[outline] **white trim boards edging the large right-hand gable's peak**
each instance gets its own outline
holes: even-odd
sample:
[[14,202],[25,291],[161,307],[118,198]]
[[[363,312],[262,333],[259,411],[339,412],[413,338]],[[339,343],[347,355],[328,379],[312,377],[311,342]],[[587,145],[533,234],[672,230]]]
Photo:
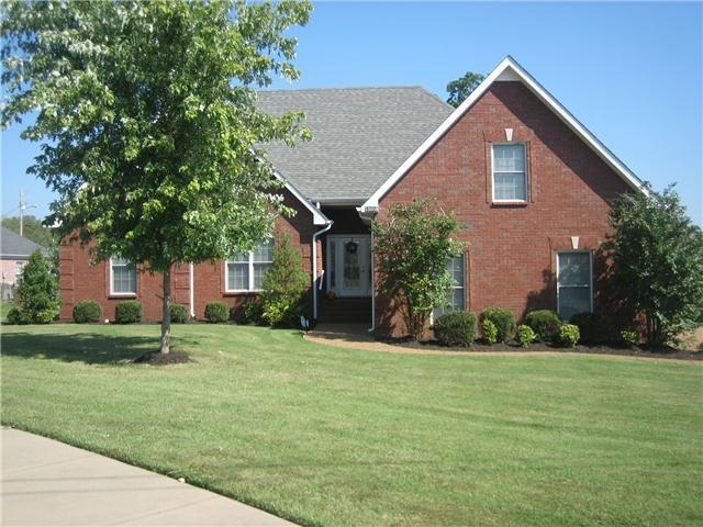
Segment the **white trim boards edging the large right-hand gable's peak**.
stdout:
[[643,181],[633,173],[603,143],[601,143],[583,124],[581,124],[551,93],[527,72],[517,61],[507,56],[481,82],[473,92],[451,112],[425,142],[381,184],[361,205],[361,211],[375,211],[379,200],[401,180],[403,176],[429,150],[454,124],[488,91],[495,81],[521,81],[549,110],[551,110],[577,136],[581,138],[605,164],[611,167],[632,189],[647,193]]

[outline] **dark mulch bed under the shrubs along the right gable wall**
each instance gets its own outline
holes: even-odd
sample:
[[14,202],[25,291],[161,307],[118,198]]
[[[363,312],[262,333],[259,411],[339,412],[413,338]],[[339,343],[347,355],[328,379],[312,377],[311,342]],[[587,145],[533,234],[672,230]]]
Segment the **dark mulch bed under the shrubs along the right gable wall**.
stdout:
[[607,346],[607,345],[596,345],[596,346],[584,346],[578,345],[574,348],[559,348],[555,346],[550,346],[548,344],[536,343],[527,348],[523,348],[517,346],[516,344],[482,344],[481,341],[473,343],[468,348],[461,347],[447,347],[442,346],[437,340],[411,340],[409,338],[387,338],[382,339],[386,344],[392,344],[395,346],[402,346],[409,349],[417,349],[417,350],[433,350],[433,351],[464,351],[464,352],[487,352],[487,351],[511,351],[511,352],[538,352],[538,351],[548,351],[548,352],[563,352],[563,354],[593,354],[593,355],[620,355],[625,357],[647,357],[647,358],[658,358],[658,359],[676,359],[676,360],[703,360],[703,352],[701,351],[690,351],[690,350],[681,350],[673,347],[662,347],[662,348],[647,348],[647,347],[633,347],[633,348],[622,348],[616,346]]

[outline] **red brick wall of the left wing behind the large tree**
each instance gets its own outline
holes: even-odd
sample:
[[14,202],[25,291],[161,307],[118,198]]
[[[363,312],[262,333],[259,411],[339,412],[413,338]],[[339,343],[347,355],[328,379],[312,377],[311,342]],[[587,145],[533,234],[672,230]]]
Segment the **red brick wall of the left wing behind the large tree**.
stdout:
[[[312,223],[312,214],[288,191],[284,192],[284,203],[297,211],[293,217],[279,216],[276,222],[278,232],[290,233],[292,246],[298,248],[303,257],[303,267],[312,277],[312,235],[320,226]],[[319,251],[320,255],[320,251]],[[322,266],[322,256],[319,256]],[[242,303],[254,293],[225,293],[224,262],[198,264],[193,269],[193,292],[196,317],[204,318],[205,304],[214,300],[224,300],[234,306]],[[78,243],[64,244],[60,249],[60,288],[62,306],[60,318],[71,319],[74,304],[81,300],[94,300],[104,310],[104,317],[114,319],[115,305],[127,299],[110,295],[110,269],[107,262],[90,265],[88,248]],[[172,272],[174,302],[190,305],[190,268],[181,266]],[[132,296],[142,302],[144,319],[149,322],[161,318],[161,276],[140,272],[137,276],[137,294]]]

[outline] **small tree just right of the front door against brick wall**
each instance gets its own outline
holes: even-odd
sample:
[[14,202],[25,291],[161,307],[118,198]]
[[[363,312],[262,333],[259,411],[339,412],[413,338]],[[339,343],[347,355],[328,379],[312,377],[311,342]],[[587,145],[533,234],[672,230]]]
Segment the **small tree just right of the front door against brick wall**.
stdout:
[[422,337],[432,310],[446,303],[451,279],[447,260],[461,254],[453,236],[457,220],[429,200],[395,204],[384,222],[373,222],[373,251],[380,291],[401,309],[408,333]]

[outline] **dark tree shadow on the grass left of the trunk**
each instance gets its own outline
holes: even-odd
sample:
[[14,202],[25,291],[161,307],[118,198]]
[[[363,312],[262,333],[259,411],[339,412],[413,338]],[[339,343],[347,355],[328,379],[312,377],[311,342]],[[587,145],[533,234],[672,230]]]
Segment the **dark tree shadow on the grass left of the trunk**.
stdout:
[[[177,338],[176,346],[193,339]],[[158,337],[108,336],[97,333],[62,334],[18,332],[2,334],[2,355],[25,359],[54,359],[86,365],[119,365],[158,350]]]

